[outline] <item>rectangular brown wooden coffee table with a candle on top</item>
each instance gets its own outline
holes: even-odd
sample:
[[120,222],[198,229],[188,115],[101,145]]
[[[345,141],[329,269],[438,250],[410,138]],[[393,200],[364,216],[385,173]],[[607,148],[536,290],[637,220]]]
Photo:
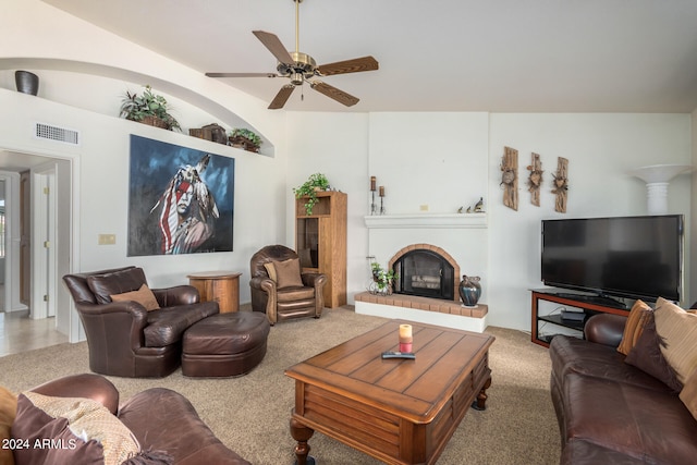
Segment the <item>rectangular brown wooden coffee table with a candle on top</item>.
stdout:
[[[416,359],[382,359],[409,323]],[[388,464],[433,464],[470,406],[484,409],[494,338],[391,320],[285,370],[299,465],[320,431]]]

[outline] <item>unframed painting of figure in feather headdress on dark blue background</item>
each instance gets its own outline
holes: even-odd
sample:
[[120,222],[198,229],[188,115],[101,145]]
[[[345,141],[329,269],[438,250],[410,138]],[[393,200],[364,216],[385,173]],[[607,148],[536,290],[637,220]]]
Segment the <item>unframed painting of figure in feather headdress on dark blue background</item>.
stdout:
[[234,158],[131,135],[129,256],[231,252]]

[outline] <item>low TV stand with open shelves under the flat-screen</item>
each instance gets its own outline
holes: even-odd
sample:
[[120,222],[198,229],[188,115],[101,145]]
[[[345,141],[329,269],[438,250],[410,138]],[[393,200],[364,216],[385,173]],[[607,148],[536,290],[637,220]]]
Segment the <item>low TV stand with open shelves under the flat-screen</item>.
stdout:
[[[559,296],[559,293],[563,293],[564,296]],[[615,308],[608,307],[604,305],[599,305],[589,302],[583,302],[578,299],[571,298],[572,294],[567,292],[562,292],[561,290],[550,289],[550,290],[531,290],[531,303],[530,303],[530,315],[531,315],[531,325],[530,325],[530,340],[539,344],[543,347],[549,347],[549,340],[540,339],[538,334],[539,323],[542,321],[547,325],[557,325],[559,327],[571,329],[572,332],[578,334],[579,338],[584,336],[584,325],[586,320],[597,314],[615,314],[615,315],[629,315],[629,310],[625,308]],[[579,295],[582,297],[583,295]],[[560,304],[562,306],[582,308],[586,311],[586,319],[584,321],[570,321],[563,320],[561,315],[539,315],[539,302],[552,302],[555,304]]]

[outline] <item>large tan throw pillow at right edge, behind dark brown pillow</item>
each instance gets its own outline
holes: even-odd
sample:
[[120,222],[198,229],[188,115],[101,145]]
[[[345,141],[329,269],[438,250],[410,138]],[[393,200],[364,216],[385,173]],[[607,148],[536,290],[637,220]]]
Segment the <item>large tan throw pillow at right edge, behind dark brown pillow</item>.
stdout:
[[683,310],[664,298],[656,303],[656,332],[665,344],[661,352],[668,364],[685,384],[697,369],[697,315]]

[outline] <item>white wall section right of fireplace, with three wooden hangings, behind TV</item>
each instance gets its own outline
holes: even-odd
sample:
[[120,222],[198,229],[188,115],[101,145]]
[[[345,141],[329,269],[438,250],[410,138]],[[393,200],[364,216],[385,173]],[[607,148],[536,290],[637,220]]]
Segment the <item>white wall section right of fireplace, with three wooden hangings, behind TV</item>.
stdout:
[[[489,323],[529,329],[527,290],[541,286],[540,220],[646,215],[646,184],[627,172],[649,164],[689,163],[689,124],[687,114],[492,114]],[[503,207],[498,188],[504,146],[518,150],[518,211]],[[540,207],[529,203],[525,186],[531,151],[541,156],[545,170]],[[568,159],[565,215],[554,212],[551,193],[557,157]],[[689,224],[688,176],[671,183],[669,210],[686,215]]]

